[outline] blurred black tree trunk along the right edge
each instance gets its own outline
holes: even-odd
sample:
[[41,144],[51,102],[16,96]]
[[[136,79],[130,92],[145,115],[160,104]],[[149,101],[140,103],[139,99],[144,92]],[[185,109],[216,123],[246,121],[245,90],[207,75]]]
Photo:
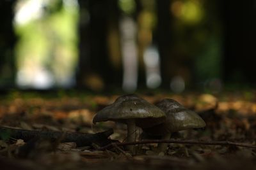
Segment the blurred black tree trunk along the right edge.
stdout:
[[224,79],[256,83],[256,2],[222,1],[224,26]]

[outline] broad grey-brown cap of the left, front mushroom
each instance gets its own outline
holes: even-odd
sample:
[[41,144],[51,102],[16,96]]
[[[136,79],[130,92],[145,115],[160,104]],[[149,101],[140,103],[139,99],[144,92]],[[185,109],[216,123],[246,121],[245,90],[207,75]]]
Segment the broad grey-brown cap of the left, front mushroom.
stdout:
[[165,118],[165,113],[153,104],[134,94],[127,94],[97,112],[93,117],[93,124],[108,120],[125,124],[125,120],[134,119],[138,127],[146,128],[163,123]]

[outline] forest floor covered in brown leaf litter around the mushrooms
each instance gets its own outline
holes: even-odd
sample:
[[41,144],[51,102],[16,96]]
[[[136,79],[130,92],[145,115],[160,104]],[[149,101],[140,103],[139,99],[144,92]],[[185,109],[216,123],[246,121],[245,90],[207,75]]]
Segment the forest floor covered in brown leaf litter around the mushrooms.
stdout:
[[[232,141],[256,146],[256,92],[222,94],[138,94],[150,103],[172,98],[196,111],[205,120],[200,131],[180,131],[172,139]],[[10,92],[0,96],[0,127],[37,132],[81,132],[95,134],[113,129],[109,139],[125,141],[126,127],[113,122],[93,125],[92,118],[118,95],[72,94],[49,96]],[[138,129],[138,136],[141,129]],[[63,133],[65,136],[65,133]],[[100,150],[91,143],[55,141],[13,136],[0,129],[0,169],[255,169],[256,149],[235,145],[170,143],[165,152],[156,152],[156,143],[136,145],[133,155],[122,146]],[[140,139],[138,138],[138,141]],[[102,145],[103,146],[103,145]]]

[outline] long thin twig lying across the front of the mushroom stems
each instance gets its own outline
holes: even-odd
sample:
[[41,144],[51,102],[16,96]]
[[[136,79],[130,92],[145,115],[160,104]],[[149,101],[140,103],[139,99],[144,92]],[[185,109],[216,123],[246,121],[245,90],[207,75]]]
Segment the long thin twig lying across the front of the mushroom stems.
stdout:
[[134,142],[124,142],[124,143],[110,143],[109,145],[103,146],[98,150],[107,150],[113,148],[113,146],[127,146],[127,145],[141,145],[149,143],[180,143],[188,145],[232,145],[232,146],[242,146],[246,148],[255,148],[256,145],[250,145],[247,143],[236,143],[231,141],[195,141],[195,140],[180,140],[180,139],[167,139],[167,140],[143,140]]

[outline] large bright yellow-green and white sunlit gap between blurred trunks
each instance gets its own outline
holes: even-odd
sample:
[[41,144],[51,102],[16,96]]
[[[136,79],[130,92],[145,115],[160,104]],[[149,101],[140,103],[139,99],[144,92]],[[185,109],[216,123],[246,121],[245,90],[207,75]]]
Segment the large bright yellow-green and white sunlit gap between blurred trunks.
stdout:
[[[17,1],[16,83],[22,88],[72,87],[77,64],[77,0]],[[61,2],[61,0],[58,0]],[[49,10],[50,9],[50,10]]]

